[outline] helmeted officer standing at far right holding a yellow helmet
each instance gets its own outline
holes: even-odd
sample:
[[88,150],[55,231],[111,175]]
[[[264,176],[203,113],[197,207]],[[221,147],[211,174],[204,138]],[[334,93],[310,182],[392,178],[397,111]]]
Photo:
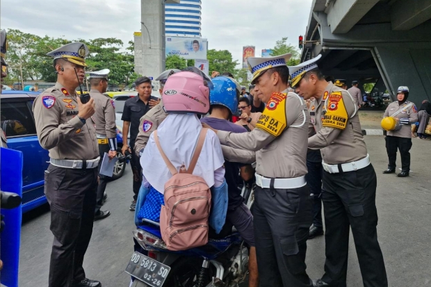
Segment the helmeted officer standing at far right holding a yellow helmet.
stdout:
[[[418,121],[418,110],[411,101],[407,101],[409,97],[409,88],[400,86],[397,94],[398,101],[393,101],[384,111],[384,117],[390,117],[393,114],[398,121],[398,129],[387,131],[386,150],[388,153],[389,164],[388,169],[384,170],[384,174],[395,172],[396,167],[396,150],[400,150],[401,156],[401,172],[397,177],[408,177],[410,173],[410,149],[412,148],[412,127]],[[398,113],[398,111],[400,111]]]

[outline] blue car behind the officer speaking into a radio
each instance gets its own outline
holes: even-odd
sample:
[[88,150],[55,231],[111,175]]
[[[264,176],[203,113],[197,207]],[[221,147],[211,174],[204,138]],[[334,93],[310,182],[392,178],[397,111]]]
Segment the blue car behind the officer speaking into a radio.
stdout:
[[1,92],[1,129],[8,138],[8,148],[22,151],[22,212],[36,208],[47,199],[44,196],[44,170],[48,151],[40,147],[36,135],[32,107],[38,92],[3,90]]

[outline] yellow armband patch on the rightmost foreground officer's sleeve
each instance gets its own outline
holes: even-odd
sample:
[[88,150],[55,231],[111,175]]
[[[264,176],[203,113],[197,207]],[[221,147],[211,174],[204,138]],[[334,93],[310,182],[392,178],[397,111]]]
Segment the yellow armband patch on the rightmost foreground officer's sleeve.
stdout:
[[323,116],[322,125],[334,129],[345,129],[348,122],[348,114],[344,106],[341,91],[332,92],[329,95],[325,106],[327,106],[327,112]]

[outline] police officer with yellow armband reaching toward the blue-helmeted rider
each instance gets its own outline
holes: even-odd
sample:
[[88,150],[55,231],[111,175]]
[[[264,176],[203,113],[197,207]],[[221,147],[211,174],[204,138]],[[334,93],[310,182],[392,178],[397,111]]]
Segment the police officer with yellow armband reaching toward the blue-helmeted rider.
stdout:
[[304,263],[313,218],[304,178],[309,113],[298,95],[286,93],[289,58],[247,58],[266,109],[250,133],[216,131],[222,145],[256,151],[254,238],[260,286],[268,287],[311,286]]

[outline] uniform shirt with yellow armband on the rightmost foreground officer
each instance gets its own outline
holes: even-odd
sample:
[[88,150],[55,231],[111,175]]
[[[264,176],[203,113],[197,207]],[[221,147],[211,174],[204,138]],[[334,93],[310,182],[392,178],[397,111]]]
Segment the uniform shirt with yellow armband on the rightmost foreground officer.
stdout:
[[366,157],[357,105],[346,90],[328,83],[323,97],[311,103],[309,112],[308,146],[320,149],[325,163],[350,163]]

